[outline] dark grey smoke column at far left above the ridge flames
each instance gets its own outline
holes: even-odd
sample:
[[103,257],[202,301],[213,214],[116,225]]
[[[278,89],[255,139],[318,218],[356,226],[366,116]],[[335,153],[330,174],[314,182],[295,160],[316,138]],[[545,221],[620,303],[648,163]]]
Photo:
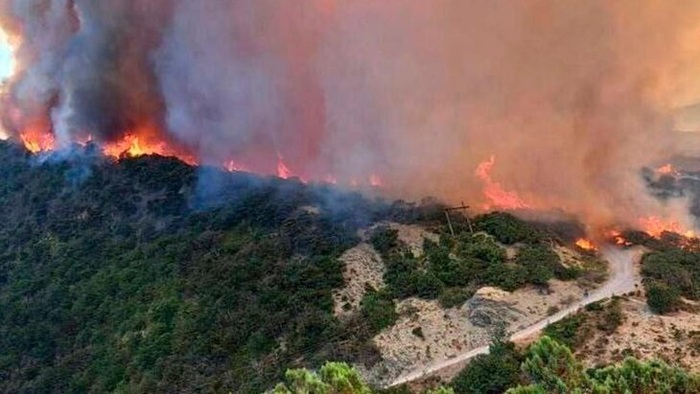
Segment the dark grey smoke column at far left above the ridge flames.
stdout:
[[164,112],[151,56],[168,24],[168,0],[4,1],[22,36],[11,91],[13,131],[44,127],[59,144],[109,141]]

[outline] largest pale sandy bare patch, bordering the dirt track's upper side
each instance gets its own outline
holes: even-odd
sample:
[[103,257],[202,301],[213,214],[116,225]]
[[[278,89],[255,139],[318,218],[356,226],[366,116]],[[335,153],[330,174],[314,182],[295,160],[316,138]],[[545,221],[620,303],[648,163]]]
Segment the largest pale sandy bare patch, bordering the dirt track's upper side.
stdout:
[[[483,287],[462,307],[443,309],[438,301],[409,298],[398,304],[399,321],[373,338],[383,362],[367,371],[373,382],[390,383],[406,371],[423,371],[488,345],[494,325],[475,324],[490,315],[517,332],[566,309],[583,295],[575,282],[553,280],[550,294],[535,288],[507,292]],[[419,373],[418,376],[422,375]]]

